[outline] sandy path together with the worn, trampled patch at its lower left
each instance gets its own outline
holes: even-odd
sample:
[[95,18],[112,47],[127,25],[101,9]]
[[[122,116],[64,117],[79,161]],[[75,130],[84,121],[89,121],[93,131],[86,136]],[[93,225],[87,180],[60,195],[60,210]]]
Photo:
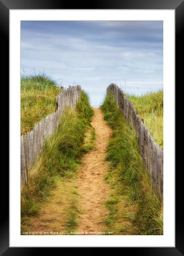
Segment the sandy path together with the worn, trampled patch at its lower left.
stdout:
[[77,227],[70,231],[88,231],[84,235],[95,235],[89,232],[106,230],[103,222],[108,212],[104,202],[109,197],[110,189],[104,182],[108,169],[104,158],[112,131],[106,125],[99,108],[94,108],[91,124],[96,133],[94,148],[83,156],[80,169],[73,174],[71,180],[58,178],[56,188],[42,203],[39,216],[25,220],[25,231],[38,231],[37,235],[53,235],[51,231],[60,231],[56,232],[56,235],[65,235],[68,230],[68,211],[72,209],[74,195],[82,213],[77,216]]

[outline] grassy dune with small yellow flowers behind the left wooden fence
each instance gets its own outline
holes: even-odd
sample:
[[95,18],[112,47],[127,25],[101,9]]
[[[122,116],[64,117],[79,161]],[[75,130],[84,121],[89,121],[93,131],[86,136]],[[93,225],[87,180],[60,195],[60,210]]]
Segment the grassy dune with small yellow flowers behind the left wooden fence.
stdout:
[[34,124],[55,112],[60,88],[45,74],[21,77],[21,134],[30,132]]

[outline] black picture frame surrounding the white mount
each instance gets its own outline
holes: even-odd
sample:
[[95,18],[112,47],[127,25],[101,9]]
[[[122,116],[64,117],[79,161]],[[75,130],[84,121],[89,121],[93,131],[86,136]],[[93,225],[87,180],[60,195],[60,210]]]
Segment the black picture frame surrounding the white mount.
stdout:
[[[184,31],[184,1],[183,0],[114,0],[114,1],[94,1],[88,2],[88,5],[60,0],[0,0],[0,31],[1,31],[1,52],[4,54],[2,73],[9,77],[9,10],[12,9],[175,9],[175,85],[182,82],[183,76],[183,56],[184,56],[184,40],[182,34]],[[183,54],[182,54],[183,53]],[[7,92],[9,93],[9,92]],[[177,97],[180,101],[181,95]],[[182,101],[181,101],[182,102]],[[177,120],[178,113],[175,112]],[[7,122],[8,123],[8,122]],[[10,124],[11,125],[11,124]],[[6,129],[7,131],[7,129]],[[179,135],[177,135],[179,138]],[[176,136],[176,139],[177,139]],[[7,141],[6,141],[7,144]],[[177,154],[175,162],[179,161],[180,155]],[[167,161],[167,159],[165,159]],[[183,232],[183,211],[181,212],[181,195],[183,195],[183,180],[180,178],[179,170],[176,171],[176,212],[175,212],[175,247],[123,247],[124,250],[130,250],[128,253],[136,253],[136,255],[184,255],[184,232]],[[181,170],[182,171],[182,170]],[[3,177],[2,177],[3,176]],[[1,172],[1,181],[8,183],[8,171]],[[1,222],[0,222],[0,255],[37,255],[43,249],[35,247],[9,247],[9,191],[6,184],[6,192],[1,192]],[[182,204],[183,206],[183,204]],[[85,247],[85,246],[84,246]],[[53,248],[46,248],[50,253]]]

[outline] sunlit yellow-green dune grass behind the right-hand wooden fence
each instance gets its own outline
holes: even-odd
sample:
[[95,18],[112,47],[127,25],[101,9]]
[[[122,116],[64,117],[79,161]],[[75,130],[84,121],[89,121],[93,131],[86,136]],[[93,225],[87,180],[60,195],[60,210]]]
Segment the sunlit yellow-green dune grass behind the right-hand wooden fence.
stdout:
[[126,96],[144,119],[149,131],[153,133],[154,141],[163,148],[163,90],[140,97],[128,94]]

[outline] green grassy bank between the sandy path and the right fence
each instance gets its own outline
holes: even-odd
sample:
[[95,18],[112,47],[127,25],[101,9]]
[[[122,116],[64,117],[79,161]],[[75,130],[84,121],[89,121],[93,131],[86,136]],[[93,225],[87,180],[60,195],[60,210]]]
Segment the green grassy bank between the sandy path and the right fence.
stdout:
[[163,206],[143,168],[136,132],[127,125],[112,95],[101,109],[113,129],[106,156],[110,168],[105,179],[112,189],[106,202],[108,230],[114,235],[162,235]]

